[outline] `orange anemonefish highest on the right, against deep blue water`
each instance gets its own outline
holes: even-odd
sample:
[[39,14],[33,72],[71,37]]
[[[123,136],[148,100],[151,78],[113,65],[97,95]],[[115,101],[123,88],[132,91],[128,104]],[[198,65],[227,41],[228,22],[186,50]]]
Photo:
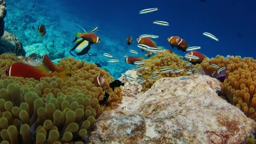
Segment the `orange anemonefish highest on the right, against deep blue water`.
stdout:
[[178,36],[168,37],[167,40],[172,48],[175,46],[178,50],[182,50],[182,52],[186,52],[187,47],[189,47],[187,42]]

